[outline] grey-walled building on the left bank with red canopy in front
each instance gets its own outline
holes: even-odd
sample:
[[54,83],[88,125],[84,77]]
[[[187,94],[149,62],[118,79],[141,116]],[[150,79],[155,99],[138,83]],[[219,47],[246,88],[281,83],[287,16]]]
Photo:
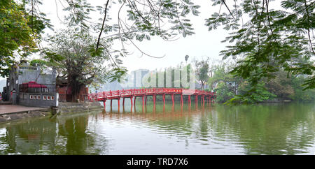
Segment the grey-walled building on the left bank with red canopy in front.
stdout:
[[[23,84],[36,82],[45,88],[22,89]],[[11,91],[16,91],[16,101],[13,101]],[[42,70],[40,66],[31,66],[26,62],[14,65],[10,70],[9,78],[6,80],[6,98],[8,101],[19,105],[52,107],[58,105],[58,94],[56,92],[56,71]]]

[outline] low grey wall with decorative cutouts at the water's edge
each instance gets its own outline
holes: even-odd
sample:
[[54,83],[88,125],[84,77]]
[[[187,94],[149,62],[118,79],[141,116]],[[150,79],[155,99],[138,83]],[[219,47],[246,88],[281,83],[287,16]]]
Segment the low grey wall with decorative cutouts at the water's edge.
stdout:
[[20,93],[18,97],[20,105],[50,108],[58,106],[59,96],[58,93]]

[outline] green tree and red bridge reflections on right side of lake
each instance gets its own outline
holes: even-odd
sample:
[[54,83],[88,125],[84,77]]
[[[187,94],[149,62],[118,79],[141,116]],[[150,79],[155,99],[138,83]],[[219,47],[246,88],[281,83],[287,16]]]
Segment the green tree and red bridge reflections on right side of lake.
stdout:
[[155,113],[149,106],[146,113],[110,112],[110,117],[146,121],[159,133],[201,140],[202,144],[232,142],[244,148],[244,154],[300,154],[314,146],[312,104],[216,105],[204,110],[192,106],[190,112],[187,107],[172,111],[172,105],[162,112],[161,107]]

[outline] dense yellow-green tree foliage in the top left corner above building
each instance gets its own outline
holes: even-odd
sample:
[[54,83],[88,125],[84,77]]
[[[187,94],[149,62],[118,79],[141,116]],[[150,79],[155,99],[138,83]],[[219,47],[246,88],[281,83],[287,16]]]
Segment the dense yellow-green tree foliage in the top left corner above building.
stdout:
[[26,2],[13,0],[0,2],[0,75],[8,75],[16,58],[25,59],[31,52],[38,51],[36,41],[41,39],[48,20],[43,13],[31,15]]

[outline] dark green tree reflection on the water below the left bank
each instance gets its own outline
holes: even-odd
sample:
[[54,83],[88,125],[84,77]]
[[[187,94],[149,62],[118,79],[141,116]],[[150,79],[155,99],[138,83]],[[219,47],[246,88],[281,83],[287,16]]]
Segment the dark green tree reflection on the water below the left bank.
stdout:
[[57,120],[30,119],[8,124],[3,128],[5,134],[0,135],[0,143],[6,146],[0,154],[104,154],[107,151],[104,136],[89,128],[92,116],[85,112],[62,115]]

